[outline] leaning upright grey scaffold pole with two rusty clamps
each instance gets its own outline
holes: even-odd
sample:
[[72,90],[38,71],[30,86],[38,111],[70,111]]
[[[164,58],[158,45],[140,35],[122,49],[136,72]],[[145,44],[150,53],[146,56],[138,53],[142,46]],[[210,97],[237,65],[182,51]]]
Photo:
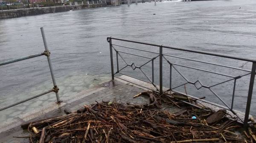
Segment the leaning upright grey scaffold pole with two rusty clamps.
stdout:
[[[46,42],[46,38],[45,38],[45,35],[44,35],[44,28],[41,27],[40,29],[41,29],[41,34],[42,34],[43,41],[44,41],[45,52],[49,52],[48,46],[47,46],[47,42]],[[51,76],[52,76],[52,83],[53,83],[53,86],[54,86],[54,88],[58,89],[57,84],[56,84],[56,81],[55,81],[55,78],[54,78],[53,70],[52,70],[52,62],[51,62],[50,56],[47,56],[47,60],[48,60],[49,69],[50,69]],[[55,94],[56,94],[57,102],[58,102],[58,103],[61,102],[61,101],[60,101],[60,98],[59,98],[59,95],[58,95],[58,90],[55,92]]]

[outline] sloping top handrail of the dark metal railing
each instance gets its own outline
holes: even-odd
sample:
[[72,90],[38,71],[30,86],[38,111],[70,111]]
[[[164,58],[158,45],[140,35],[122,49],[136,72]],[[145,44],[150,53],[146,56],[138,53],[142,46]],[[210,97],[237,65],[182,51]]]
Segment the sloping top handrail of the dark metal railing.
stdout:
[[228,55],[204,52],[204,51],[199,51],[199,50],[174,48],[174,47],[168,47],[168,46],[163,46],[163,45],[156,45],[156,44],[150,44],[150,43],[145,43],[145,42],[137,42],[137,41],[131,41],[131,40],[125,40],[125,39],[119,39],[119,38],[113,38],[113,37],[108,37],[108,38],[119,40],[119,41],[125,41],[125,42],[133,42],[133,43],[137,43],[137,44],[151,45],[151,46],[156,46],[156,47],[162,46],[163,48],[168,48],[168,49],[173,49],[173,50],[181,50],[181,51],[192,52],[192,53],[201,53],[201,54],[210,55],[210,56],[219,56],[219,57],[223,57],[223,58],[237,59],[237,60],[247,61],[247,62],[256,62],[255,59],[247,59],[247,58],[241,58],[241,57],[236,57],[236,56],[228,56]]

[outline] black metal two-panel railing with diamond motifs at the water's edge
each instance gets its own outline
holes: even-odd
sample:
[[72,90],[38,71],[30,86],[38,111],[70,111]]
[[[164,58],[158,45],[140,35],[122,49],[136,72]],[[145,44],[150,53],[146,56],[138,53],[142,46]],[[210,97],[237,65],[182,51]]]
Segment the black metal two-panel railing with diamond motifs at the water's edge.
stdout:
[[[136,43],[136,44],[140,44],[140,45],[148,45],[148,46],[153,46],[153,47],[158,47],[159,48],[159,52],[154,52],[154,51],[149,51],[149,50],[143,50],[143,49],[138,49],[138,48],[132,48],[132,47],[128,47],[128,46],[123,46],[123,45],[117,45],[117,44],[113,44],[112,43],[112,40],[116,40],[116,41],[121,41],[121,42],[128,42],[128,43]],[[250,104],[251,104],[251,99],[252,99],[252,94],[253,94],[253,84],[254,84],[254,79],[255,79],[255,72],[256,72],[256,60],[254,59],[246,59],[246,58],[240,58],[240,57],[235,57],[235,56],[227,56],[227,55],[221,55],[221,54],[218,54],[218,53],[210,53],[210,52],[204,52],[204,51],[198,51],[198,50],[189,50],[189,49],[182,49],[182,48],[173,48],[173,47],[168,47],[168,46],[163,46],[163,45],[156,45],[156,44],[149,44],[149,43],[145,43],[145,42],[136,42],[136,41],[131,41],[131,40],[125,40],[125,39],[118,39],[118,38],[113,38],[113,37],[108,37],[107,38],[107,41],[109,42],[109,45],[110,45],[110,56],[111,56],[111,74],[112,74],[112,80],[114,80],[114,77],[116,78],[119,78],[121,79],[119,76],[116,76],[116,74],[121,74],[121,75],[125,75],[125,76],[129,76],[125,73],[122,73],[122,70],[125,69],[126,67],[131,67],[133,70],[135,69],[138,69],[140,70],[140,72],[146,77],[146,79],[148,81],[145,81],[143,79],[139,79],[137,77],[134,77],[134,76],[129,76],[129,77],[132,77],[132,78],[135,78],[135,79],[138,79],[138,80],[141,80],[141,81],[145,81],[149,84],[152,84],[154,86],[155,89],[151,89],[149,87],[146,87],[146,86],[143,86],[143,85],[139,85],[141,87],[144,87],[146,89],[149,89],[149,90],[154,90],[154,91],[157,91],[159,92],[160,94],[162,93],[165,93],[165,92],[169,92],[169,91],[172,91],[172,92],[177,92],[177,93],[180,93],[178,91],[176,91],[175,89],[178,88],[178,87],[181,87],[181,86],[184,86],[186,84],[192,84],[195,86],[195,88],[197,90],[201,89],[201,88],[206,88],[208,89],[211,93],[213,93],[213,95],[215,95],[221,102],[222,104],[224,104],[224,106],[221,106],[219,104],[215,104],[215,103],[212,103],[210,101],[206,101],[204,99],[200,99],[200,98],[197,98],[197,97],[194,97],[194,96],[191,96],[191,95],[188,95],[188,94],[185,94],[186,96],[188,97],[191,97],[191,98],[195,98],[199,101],[203,101],[203,102],[206,102],[208,104],[212,104],[214,106],[217,106],[217,107],[221,107],[221,108],[224,108],[224,109],[227,109],[229,111],[231,111],[234,115],[236,115],[240,120],[241,122],[244,123],[244,127],[247,127],[248,126],[248,118],[249,118],[249,114],[250,114]],[[132,50],[138,50],[138,51],[143,51],[143,52],[149,52],[149,53],[154,53],[154,54],[157,54],[157,56],[154,56],[153,58],[151,57],[147,57],[147,56],[143,56],[143,55],[138,55],[138,54],[133,54],[133,53],[128,53],[128,52],[125,52],[125,51],[121,51],[121,50],[118,50],[116,47],[122,47],[122,48],[128,48],[128,49],[132,49]],[[212,63],[212,62],[204,62],[204,61],[200,61],[200,60],[195,60],[195,59],[189,59],[189,58],[184,58],[184,57],[180,57],[180,56],[174,56],[174,55],[170,55],[170,54],[165,54],[163,53],[163,48],[166,48],[166,49],[172,49],[172,50],[180,50],[180,51],[186,51],[186,52],[191,52],[191,53],[199,53],[199,54],[204,54],[204,55],[209,55],[209,56],[217,56],[217,57],[223,57],[223,58],[228,58],[228,59],[235,59],[235,60],[241,60],[241,61],[246,61],[246,62],[251,62],[252,63],[252,69],[251,70],[245,70],[245,69],[242,69],[242,68],[237,68],[237,67],[232,67],[232,66],[227,66],[227,65],[222,65],[222,64],[216,64],[216,63]],[[113,50],[115,50],[116,52],[116,72],[114,73],[114,66],[113,66]],[[125,53],[125,54],[129,54],[129,55],[132,55],[132,56],[138,56],[138,57],[142,57],[142,58],[145,58],[145,59],[148,59],[147,62],[145,62],[144,64],[142,64],[141,66],[137,66],[136,64],[131,63],[129,64],[128,62],[125,61],[124,57],[120,54],[120,53]],[[119,69],[119,60],[118,58],[121,58],[124,62],[125,62],[125,66],[122,67],[121,69]],[[154,82],[154,61],[156,58],[159,57],[159,86],[155,84]],[[186,66],[186,65],[183,65],[183,64],[178,64],[178,63],[175,63],[175,62],[172,62],[172,61],[169,61],[167,59],[167,57],[174,57],[174,58],[178,58],[178,59],[185,59],[185,60],[189,60],[189,61],[193,61],[193,62],[199,62],[199,63],[204,63],[204,64],[210,64],[210,65],[214,65],[214,66],[219,66],[219,67],[226,67],[226,68],[230,68],[230,69],[234,69],[234,70],[238,70],[238,71],[243,71],[245,72],[244,74],[241,74],[239,76],[232,76],[232,75],[229,75],[229,74],[225,74],[225,73],[218,73],[218,72],[214,72],[214,71],[211,71],[211,70],[204,70],[204,69],[201,69],[201,68],[197,68],[197,67],[191,67],[191,66]],[[166,90],[166,91],[163,91],[163,60],[166,60],[169,64],[169,74],[170,74],[170,79],[169,79],[169,89]],[[148,64],[149,62],[151,62],[151,67],[152,67],[152,78],[150,79],[146,74],[145,72],[142,70],[142,67],[145,65],[145,64]],[[186,68],[189,68],[189,69],[193,69],[193,70],[200,70],[200,71],[204,71],[204,72],[207,72],[207,73],[212,73],[212,74],[216,74],[216,75],[220,75],[220,76],[225,76],[225,77],[228,77],[228,78],[231,78],[231,79],[228,79],[226,81],[221,81],[219,83],[216,83],[214,85],[211,85],[211,86],[207,86],[207,85],[204,85],[200,80],[197,80],[195,82],[192,82],[190,81],[189,79],[186,78],[186,76],[184,76],[180,70],[177,69],[177,67],[186,67]],[[184,84],[181,84],[181,85],[178,85],[176,87],[172,87],[172,70],[176,70],[176,72],[182,76],[182,78],[186,81]],[[250,75],[250,83],[249,83],[249,90],[248,90],[248,95],[247,95],[247,105],[246,105],[246,110],[245,110],[245,115],[244,115],[244,120],[242,120],[238,115],[237,113],[235,112],[234,110],[234,98],[235,98],[235,90],[236,90],[236,81],[238,79],[240,79],[241,77],[244,77],[244,76],[247,76],[247,75]],[[122,80],[125,80],[125,79],[122,79]],[[233,93],[232,93],[232,100],[231,100],[231,106],[229,106],[213,89],[212,87],[215,87],[219,84],[224,84],[228,81],[233,81],[234,80],[234,84],[233,84]],[[128,80],[125,80],[125,81],[128,81]],[[133,83],[132,81],[128,81],[128,82],[131,82]],[[136,84],[136,83],[133,83],[133,84]],[[199,85],[199,86],[197,86]]]

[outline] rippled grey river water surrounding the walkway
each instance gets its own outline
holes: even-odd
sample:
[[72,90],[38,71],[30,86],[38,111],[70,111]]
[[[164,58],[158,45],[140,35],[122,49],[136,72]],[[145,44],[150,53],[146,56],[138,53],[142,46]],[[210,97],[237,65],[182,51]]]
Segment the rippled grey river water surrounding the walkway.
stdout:
[[[255,21],[255,0],[171,2],[157,3],[157,6],[154,6],[154,3],[148,3],[131,5],[130,7],[123,5],[6,19],[0,20],[0,61],[44,51],[40,32],[40,27],[44,27],[61,96],[70,96],[110,77],[107,36],[255,58]],[[128,43],[125,44],[129,45]],[[141,48],[145,49],[146,47],[142,46]],[[147,47],[147,49],[156,50],[152,47]],[[164,52],[249,70],[251,68],[250,63],[242,61],[195,55],[175,50],[164,50]],[[147,54],[141,53],[141,55]],[[129,62],[134,62],[136,59],[128,55],[123,56]],[[142,63],[146,61],[145,59],[138,60]],[[169,60],[236,76],[242,74],[238,71],[205,64],[195,64],[177,59]],[[148,68],[146,68],[147,66]],[[145,72],[150,75],[151,67],[150,65],[147,66]],[[164,63],[165,66],[168,65]],[[179,70],[189,80],[200,79],[206,85],[228,79],[186,68],[179,67]],[[133,74],[133,71],[129,69],[125,72]],[[167,87],[169,86],[168,74],[169,67],[166,67],[164,84]],[[52,88],[49,67],[45,57],[2,66],[0,77],[1,107]],[[173,86],[184,82],[175,72],[173,78],[175,79]],[[242,111],[246,105],[248,79],[249,76],[244,77],[238,81],[236,87],[238,91],[236,91],[235,107]],[[224,98],[229,105],[232,97],[232,84],[233,81],[215,87],[216,93]],[[186,88],[189,93],[192,92],[198,96],[205,95],[208,99],[220,103],[208,90],[201,89],[200,92],[194,92],[194,87],[187,86]],[[183,91],[184,87],[180,87],[179,90]],[[3,121],[6,118],[15,117],[29,109],[44,106],[47,102],[54,100],[55,95],[53,93],[37,98],[32,102],[2,111],[0,119]],[[255,104],[256,96],[253,95],[251,111],[253,115],[256,115]]]

